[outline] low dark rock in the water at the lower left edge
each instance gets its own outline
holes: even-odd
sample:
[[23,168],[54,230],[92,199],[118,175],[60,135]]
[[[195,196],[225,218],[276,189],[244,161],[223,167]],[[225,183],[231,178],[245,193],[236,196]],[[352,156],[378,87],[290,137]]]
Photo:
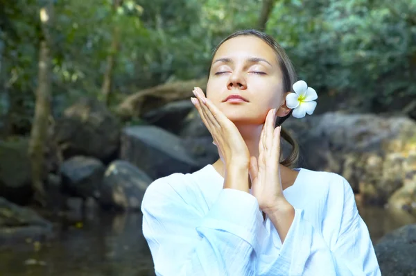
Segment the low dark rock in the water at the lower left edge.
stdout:
[[53,225],[32,209],[0,198],[0,248],[51,236]]

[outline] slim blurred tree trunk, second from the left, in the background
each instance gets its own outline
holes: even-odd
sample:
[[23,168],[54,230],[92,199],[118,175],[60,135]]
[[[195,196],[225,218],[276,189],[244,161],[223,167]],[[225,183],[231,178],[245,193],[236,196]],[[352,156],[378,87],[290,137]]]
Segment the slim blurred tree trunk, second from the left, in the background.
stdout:
[[[117,9],[123,4],[123,0],[114,0],[113,2],[113,12],[116,16]],[[117,24],[117,23],[116,23]],[[101,94],[103,96],[103,101],[108,105],[110,101],[110,94],[112,90],[112,75],[115,67],[116,54],[119,51],[120,46],[120,28],[119,26],[114,26],[112,34],[112,42],[110,46],[110,53],[107,55],[107,67],[105,68],[103,86],[101,87]]]

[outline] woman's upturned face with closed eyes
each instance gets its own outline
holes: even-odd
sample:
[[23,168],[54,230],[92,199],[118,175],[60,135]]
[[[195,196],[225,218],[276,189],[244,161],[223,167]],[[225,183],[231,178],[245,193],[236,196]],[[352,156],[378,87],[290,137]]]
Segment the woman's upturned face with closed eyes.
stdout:
[[[258,37],[234,37],[214,55],[207,98],[234,123],[264,123],[267,112],[281,107],[285,95],[275,51]],[[286,111],[280,108],[277,116]]]

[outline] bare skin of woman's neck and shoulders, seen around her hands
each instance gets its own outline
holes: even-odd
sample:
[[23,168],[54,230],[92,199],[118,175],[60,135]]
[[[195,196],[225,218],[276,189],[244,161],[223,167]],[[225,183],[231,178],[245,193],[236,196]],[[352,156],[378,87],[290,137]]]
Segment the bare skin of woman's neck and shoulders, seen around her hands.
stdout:
[[[243,137],[245,144],[247,145],[248,151],[250,152],[250,156],[256,157],[259,159],[259,141],[260,141],[260,134],[263,125],[256,125],[256,126],[237,126],[239,132],[241,133],[241,137]],[[225,164],[221,159],[218,159],[214,164],[214,169],[220,175],[224,177],[225,175]],[[291,186],[297,177],[298,172],[293,171],[286,166],[280,165],[280,177],[281,177],[281,186],[283,189]],[[249,178],[250,182],[250,178]],[[251,187],[251,183],[250,183]]]

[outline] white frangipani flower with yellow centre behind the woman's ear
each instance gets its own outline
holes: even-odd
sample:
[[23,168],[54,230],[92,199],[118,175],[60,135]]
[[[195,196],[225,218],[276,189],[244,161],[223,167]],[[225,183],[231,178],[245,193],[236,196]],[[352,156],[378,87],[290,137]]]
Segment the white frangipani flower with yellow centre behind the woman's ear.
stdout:
[[293,109],[293,117],[302,118],[306,113],[312,115],[316,107],[315,100],[318,98],[315,89],[308,87],[304,80],[299,80],[293,84],[293,91],[295,93],[286,96],[286,105]]

